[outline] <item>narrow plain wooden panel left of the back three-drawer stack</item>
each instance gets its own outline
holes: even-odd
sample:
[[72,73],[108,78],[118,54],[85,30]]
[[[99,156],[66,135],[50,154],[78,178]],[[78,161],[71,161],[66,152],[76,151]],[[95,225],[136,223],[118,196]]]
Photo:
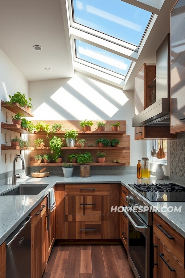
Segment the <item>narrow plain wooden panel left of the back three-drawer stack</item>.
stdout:
[[65,185],[56,184],[56,239],[65,239]]

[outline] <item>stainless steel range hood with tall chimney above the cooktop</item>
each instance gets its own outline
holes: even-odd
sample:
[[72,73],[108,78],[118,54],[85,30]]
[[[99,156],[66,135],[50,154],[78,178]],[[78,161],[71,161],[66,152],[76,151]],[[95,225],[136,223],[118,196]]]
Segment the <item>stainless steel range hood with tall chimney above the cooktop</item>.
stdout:
[[136,115],[133,126],[170,126],[170,34],[156,52],[156,102]]

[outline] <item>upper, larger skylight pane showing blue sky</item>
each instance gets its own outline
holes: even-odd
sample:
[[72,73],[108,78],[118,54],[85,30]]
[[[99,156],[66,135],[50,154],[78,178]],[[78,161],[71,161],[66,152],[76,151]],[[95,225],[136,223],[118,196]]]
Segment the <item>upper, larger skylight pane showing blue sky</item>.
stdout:
[[139,45],[151,13],[121,0],[72,0],[74,21]]

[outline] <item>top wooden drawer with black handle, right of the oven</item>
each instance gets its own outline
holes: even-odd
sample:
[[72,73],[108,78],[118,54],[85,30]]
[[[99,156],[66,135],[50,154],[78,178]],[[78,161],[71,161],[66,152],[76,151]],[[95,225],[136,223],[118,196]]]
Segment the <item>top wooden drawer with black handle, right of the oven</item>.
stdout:
[[153,232],[184,267],[184,238],[156,213],[153,215]]

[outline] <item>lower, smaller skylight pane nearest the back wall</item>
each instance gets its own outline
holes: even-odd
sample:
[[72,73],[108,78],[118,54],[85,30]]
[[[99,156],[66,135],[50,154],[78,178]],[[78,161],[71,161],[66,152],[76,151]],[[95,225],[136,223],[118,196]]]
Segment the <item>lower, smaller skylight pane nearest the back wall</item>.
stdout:
[[122,75],[127,74],[132,62],[129,59],[80,40],[76,40],[76,57]]

